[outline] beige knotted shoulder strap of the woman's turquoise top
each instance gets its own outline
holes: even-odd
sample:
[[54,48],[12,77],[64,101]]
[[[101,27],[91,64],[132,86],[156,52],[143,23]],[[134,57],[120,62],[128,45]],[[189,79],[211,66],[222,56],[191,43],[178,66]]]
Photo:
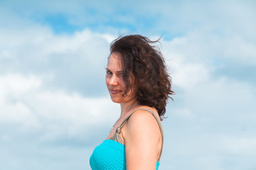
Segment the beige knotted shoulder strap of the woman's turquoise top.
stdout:
[[[156,116],[156,114],[151,111],[150,109],[148,108],[137,108],[135,109],[134,111],[132,111],[132,113],[138,111],[138,110],[144,110],[144,111],[149,111],[149,113],[151,113],[152,115],[154,115],[154,118],[156,118],[156,121],[157,123],[159,124],[159,128],[160,128],[160,132],[161,132],[161,152],[160,152],[160,156],[159,156],[159,159],[158,161],[160,161],[161,159],[161,154],[163,152],[163,145],[164,145],[164,130],[161,126],[161,121],[159,120],[159,118]],[[119,136],[119,133],[121,131],[121,129],[124,127],[125,123],[127,123],[128,119],[131,117],[132,113],[129,113],[129,115],[127,115],[126,118],[124,118],[124,120],[122,121],[121,125],[117,128],[116,132],[114,133],[114,135],[110,138],[110,140],[114,140],[116,142],[119,142],[122,144],[122,140]]]

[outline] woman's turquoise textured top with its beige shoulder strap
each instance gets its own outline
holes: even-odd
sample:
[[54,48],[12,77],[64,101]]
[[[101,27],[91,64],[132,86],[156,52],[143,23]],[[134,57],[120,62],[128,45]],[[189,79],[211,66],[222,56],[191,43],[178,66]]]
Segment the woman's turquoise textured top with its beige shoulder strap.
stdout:
[[[154,117],[157,120],[157,123],[159,123],[159,128],[161,130],[161,136],[162,136],[162,147],[161,152],[163,149],[163,142],[164,142],[164,135],[163,135],[163,129],[161,127],[160,120],[156,117],[155,113],[153,111],[150,111],[146,108],[138,108],[132,113],[134,113],[137,110],[145,110],[149,111],[154,115]],[[124,124],[127,122],[129,117],[132,115],[130,113],[127,118],[124,118],[122,124],[117,128],[114,136],[110,140],[104,140],[100,145],[95,147],[94,151],[92,152],[92,155],[90,157],[90,166],[92,170],[126,170],[126,157],[125,157],[125,146],[122,145],[120,142],[119,132],[124,126]],[[160,152],[160,157],[161,157]],[[159,159],[160,159],[159,157]],[[156,162],[156,170],[159,168],[159,162]]]

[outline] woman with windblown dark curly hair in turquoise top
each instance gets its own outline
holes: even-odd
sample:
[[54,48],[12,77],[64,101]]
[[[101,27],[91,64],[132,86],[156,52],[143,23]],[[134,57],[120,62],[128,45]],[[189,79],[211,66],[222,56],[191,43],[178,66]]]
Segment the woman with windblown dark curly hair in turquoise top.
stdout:
[[161,120],[171,91],[171,78],[159,48],[142,35],[114,40],[106,85],[121,114],[107,139],[90,157],[92,170],[158,169],[164,136]]

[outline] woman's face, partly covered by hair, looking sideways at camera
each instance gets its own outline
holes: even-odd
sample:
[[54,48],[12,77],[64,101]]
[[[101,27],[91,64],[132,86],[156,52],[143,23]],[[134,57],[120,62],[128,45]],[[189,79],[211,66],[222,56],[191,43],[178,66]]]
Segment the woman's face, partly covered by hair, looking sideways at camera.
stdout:
[[114,103],[126,103],[132,100],[131,91],[124,95],[126,89],[123,77],[122,77],[122,64],[120,54],[113,52],[107,62],[106,69],[106,85],[110,93],[110,97]]

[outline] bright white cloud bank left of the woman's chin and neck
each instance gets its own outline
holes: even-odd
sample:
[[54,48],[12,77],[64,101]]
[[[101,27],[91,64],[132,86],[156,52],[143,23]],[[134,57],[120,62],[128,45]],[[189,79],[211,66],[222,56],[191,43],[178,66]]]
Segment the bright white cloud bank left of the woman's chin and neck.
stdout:
[[25,132],[41,130],[44,140],[56,140],[64,134],[78,138],[84,134],[85,139],[91,127],[104,127],[119,113],[108,96],[85,98],[49,91],[43,89],[43,80],[33,75],[8,74],[1,76],[0,82],[1,123],[21,126]]

